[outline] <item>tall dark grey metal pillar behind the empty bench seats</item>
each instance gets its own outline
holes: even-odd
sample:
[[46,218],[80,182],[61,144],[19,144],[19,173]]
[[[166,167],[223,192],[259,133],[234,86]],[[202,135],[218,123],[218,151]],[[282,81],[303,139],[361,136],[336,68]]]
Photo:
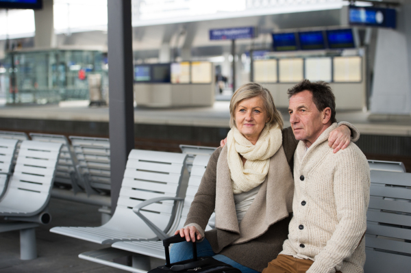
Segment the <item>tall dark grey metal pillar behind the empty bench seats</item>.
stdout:
[[110,168],[114,213],[129,152],[134,148],[132,1],[108,1]]

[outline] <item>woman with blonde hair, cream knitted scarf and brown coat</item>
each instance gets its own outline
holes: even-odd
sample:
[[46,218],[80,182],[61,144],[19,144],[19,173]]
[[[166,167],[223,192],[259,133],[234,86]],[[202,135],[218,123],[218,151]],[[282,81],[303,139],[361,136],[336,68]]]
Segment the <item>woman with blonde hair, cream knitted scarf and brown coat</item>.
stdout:
[[[273,96],[258,83],[240,86],[229,109],[227,144],[210,157],[186,224],[175,234],[188,242],[197,239],[198,256],[243,273],[261,272],[288,235],[297,140],[292,129],[283,129]],[[347,127],[338,128],[338,142],[349,139]],[[216,229],[205,233],[214,209]],[[173,245],[171,262],[192,259],[188,242]]]

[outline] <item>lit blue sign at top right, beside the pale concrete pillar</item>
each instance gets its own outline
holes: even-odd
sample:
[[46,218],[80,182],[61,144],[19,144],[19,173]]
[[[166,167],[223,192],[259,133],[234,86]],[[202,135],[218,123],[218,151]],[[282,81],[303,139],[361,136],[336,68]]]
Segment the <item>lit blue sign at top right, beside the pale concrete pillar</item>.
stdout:
[[396,27],[396,12],[391,8],[349,6],[349,24],[370,27]]

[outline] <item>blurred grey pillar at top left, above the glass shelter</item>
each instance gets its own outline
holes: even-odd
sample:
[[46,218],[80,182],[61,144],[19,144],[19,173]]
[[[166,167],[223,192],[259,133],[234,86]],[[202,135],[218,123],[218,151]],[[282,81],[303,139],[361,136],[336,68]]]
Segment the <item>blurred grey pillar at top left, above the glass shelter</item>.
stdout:
[[55,47],[53,0],[43,0],[42,10],[34,10],[34,47]]

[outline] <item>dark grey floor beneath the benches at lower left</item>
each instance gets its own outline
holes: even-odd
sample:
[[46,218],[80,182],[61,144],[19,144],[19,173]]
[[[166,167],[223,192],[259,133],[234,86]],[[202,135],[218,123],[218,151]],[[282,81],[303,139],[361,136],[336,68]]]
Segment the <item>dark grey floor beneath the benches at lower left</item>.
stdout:
[[52,198],[49,205],[51,224],[40,226],[36,230],[37,259],[29,261],[20,259],[18,231],[0,233],[0,273],[125,272],[77,257],[82,252],[109,246],[49,232],[53,226],[99,226],[101,216],[97,209],[99,209],[97,206]]

